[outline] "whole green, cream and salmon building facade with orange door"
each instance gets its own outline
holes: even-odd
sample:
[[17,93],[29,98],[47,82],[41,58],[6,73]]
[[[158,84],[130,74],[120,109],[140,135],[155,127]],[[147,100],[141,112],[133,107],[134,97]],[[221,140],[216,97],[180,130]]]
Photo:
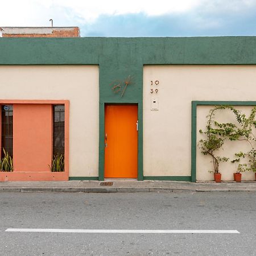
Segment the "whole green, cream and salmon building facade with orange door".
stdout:
[[[14,171],[0,179],[213,180],[199,129],[214,105],[248,113],[256,105],[255,44],[255,37],[1,38],[1,148],[13,155]],[[232,158],[238,146],[229,143]],[[65,171],[51,172],[59,153]],[[232,163],[221,172],[232,180]]]

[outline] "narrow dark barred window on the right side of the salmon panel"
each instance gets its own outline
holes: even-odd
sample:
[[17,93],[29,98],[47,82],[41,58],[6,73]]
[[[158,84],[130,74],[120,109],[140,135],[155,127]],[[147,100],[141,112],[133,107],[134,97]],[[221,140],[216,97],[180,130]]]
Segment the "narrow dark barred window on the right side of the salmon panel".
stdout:
[[65,106],[53,105],[53,155],[65,152]]

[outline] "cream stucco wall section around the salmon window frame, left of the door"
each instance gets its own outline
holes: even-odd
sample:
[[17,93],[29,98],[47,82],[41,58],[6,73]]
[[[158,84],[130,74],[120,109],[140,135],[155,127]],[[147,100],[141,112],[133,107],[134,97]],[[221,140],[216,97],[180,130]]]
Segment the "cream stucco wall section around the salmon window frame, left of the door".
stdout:
[[96,65],[0,66],[1,100],[69,100],[69,176],[98,176]]

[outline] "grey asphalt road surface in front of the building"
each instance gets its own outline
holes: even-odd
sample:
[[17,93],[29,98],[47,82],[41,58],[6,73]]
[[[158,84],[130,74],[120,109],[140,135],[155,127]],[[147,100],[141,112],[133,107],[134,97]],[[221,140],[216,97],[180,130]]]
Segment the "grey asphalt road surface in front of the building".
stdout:
[[[240,234],[6,232],[238,230]],[[0,193],[0,255],[256,255],[256,193]]]

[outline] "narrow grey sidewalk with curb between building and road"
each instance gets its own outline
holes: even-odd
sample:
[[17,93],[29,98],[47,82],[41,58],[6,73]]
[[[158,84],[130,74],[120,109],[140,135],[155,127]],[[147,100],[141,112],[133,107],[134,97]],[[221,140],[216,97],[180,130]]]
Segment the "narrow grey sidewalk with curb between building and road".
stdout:
[[225,191],[256,192],[256,181],[199,182],[184,181],[137,181],[108,179],[105,181],[11,181],[0,183],[0,192],[178,192],[178,191]]

